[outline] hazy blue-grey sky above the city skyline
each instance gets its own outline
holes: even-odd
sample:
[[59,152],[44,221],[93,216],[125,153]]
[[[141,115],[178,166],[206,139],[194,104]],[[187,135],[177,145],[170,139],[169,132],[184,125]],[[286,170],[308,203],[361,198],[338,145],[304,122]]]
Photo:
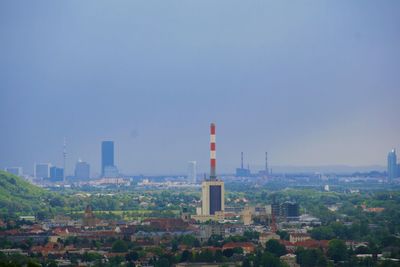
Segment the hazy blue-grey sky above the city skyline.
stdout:
[[400,1],[0,1],[0,167],[386,164]]

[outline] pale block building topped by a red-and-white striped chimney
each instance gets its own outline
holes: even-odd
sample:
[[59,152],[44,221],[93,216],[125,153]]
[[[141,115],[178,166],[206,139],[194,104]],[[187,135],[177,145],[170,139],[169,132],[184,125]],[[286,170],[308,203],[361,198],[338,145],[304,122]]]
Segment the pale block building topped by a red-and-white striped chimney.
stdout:
[[201,215],[216,215],[225,209],[224,182],[217,179],[216,175],[216,145],[215,124],[210,125],[210,179],[202,183]]

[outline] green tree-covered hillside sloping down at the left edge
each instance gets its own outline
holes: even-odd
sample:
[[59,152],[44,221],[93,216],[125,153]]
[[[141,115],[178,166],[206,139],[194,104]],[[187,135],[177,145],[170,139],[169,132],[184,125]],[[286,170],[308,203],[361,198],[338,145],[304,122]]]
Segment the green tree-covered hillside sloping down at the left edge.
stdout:
[[54,199],[59,197],[23,178],[0,171],[0,215],[35,215],[48,210]]

